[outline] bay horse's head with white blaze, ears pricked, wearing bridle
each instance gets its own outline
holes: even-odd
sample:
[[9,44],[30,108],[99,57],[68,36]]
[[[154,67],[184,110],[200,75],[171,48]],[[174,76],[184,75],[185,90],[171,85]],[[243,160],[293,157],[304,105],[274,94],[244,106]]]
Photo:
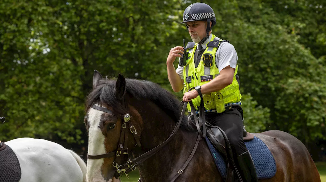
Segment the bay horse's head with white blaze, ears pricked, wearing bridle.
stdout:
[[[141,117],[128,106],[126,80],[102,78],[94,71],[93,91],[87,96],[84,119],[88,132],[88,182],[109,181],[124,173],[132,150],[138,145]],[[127,164],[132,167],[132,164]]]

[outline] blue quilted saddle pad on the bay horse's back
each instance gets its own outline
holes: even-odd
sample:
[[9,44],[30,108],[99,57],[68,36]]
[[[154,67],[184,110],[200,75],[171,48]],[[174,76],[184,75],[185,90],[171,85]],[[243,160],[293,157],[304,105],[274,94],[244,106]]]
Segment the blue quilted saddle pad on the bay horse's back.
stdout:
[[[226,177],[226,163],[222,154],[218,152],[211,141],[206,137],[206,142],[211,151],[218,171],[223,178]],[[266,179],[275,176],[276,164],[274,157],[268,147],[259,138],[245,141],[245,146],[249,150],[252,160],[254,161],[257,176],[259,179]]]

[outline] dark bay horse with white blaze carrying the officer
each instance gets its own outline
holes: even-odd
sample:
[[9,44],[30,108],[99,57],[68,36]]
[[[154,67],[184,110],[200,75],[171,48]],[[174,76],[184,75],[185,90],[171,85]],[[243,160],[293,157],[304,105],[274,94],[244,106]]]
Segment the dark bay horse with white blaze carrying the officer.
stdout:
[[[85,111],[88,182],[109,181],[118,172],[125,172],[122,167],[130,170],[135,163],[125,164],[129,155],[137,159],[145,152],[151,153],[151,149],[169,138],[181,115],[179,101],[159,85],[125,79],[122,75],[117,80],[102,78],[96,70]],[[260,181],[320,182],[308,150],[298,139],[278,130],[254,135],[268,146],[276,162],[275,176]],[[141,181],[171,181],[188,159],[197,136],[197,130],[183,119],[164,147],[138,161]],[[205,140],[200,140],[193,158],[176,181],[223,181]]]

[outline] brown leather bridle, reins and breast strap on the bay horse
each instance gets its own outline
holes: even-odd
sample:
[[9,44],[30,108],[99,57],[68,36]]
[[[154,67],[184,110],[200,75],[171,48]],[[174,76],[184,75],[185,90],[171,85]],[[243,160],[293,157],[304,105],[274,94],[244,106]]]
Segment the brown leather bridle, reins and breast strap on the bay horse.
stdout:
[[[194,89],[194,88],[192,88],[192,89]],[[189,91],[192,90],[192,89],[189,89]],[[113,165],[114,167],[116,167],[116,169],[117,169],[116,172],[115,172],[115,174],[114,174],[114,177],[115,177],[116,179],[119,178],[119,175],[120,175],[122,172],[124,172],[124,174],[126,175],[126,177],[129,179],[129,176],[128,176],[128,173],[129,173],[129,172],[135,170],[136,167],[137,167],[139,164],[141,164],[141,163],[144,162],[146,159],[148,159],[148,158],[150,158],[151,156],[153,156],[156,152],[158,152],[160,149],[162,149],[166,144],[168,144],[168,143],[172,140],[173,136],[177,133],[177,131],[178,131],[180,125],[181,125],[182,119],[183,119],[183,117],[184,117],[184,114],[183,114],[183,113],[185,113],[185,109],[186,109],[186,107],[187,107],[187,103],[188,103],[188,102],[185,102],[185,103],[184,103],[184,106],[183,106],[183,109],[182,109],[182,112],[181,112],[180,118],[179,118],[179,120],[178,120],[176,126],[174,127],[172,133],[170,134],[170,136],[169,136],[169,138],[168,138],[167,140],[165,140],[165,141],[164,141],[163,143],[161,143],[160,145],[154,147],[153,149],[149,150],[148,152],[145,152],[145,153],[141,154],[141,155],[138,156],[137,158],[132,159],[132,160],[129,159],[129,160],[127,161],[127,163],[125,163],[125,164],[119,165],[119,164],[116,163],[115,161],[113,162],[112,165]],[[192,105],[192,102],[191,102],[191,101],[190,101],[190,105]],[[125,107],[126,107],[126,103],[125,103]],[[106,113],[109,113],[109,114],[114,115],[114,116],[116,116],[116,117],[118,117],[118,118],[121,118],[121,116],[122,116],[122,115],[117,116],[113,111],[111,111],[111,110],[109,110],[109,109],[107,109],[107,108],[105,108],[105,107],[99,107],[99,106],[96,106],[96,105],[92,105],[91,108],[93,108],[93,109],[97,109],[97,110],[100,110],[100,111],[103,111],[103,112],[106,112]],[[203,113],[203,112],[202,112],[202,113]],[[195,117],[195,118],[196,118],[196,117]],[[123,121],[123,122],[122,122],[122,128],[121,128],[122,131],[121,131],[121,133],[120,133],[120,140],[119,140],[119,145],[118,145],[118,148],[120,148],[120,150],[113,151],[113,152],[109,152],[109,153],[105,153],[105,154],[101,154],[101,155],[89,155],[89,154],[87,154],[87,158],[88,158],[88,159],[102,159],[102,158],[112,157],[112,156],[114,156],[114,155],[116,156],[116,158],[118,158],[118,157],[121,156],[121,154],[127,154],[127,155],[129,156],[129,154],[128,154],[128,148],[126,148],[126,147],[127,147],[127,146],[126,146],[126,145],[127,145],[127,133],[125,132],[125,128],[126,128],[126,126],[128,125],[128,121],[129,121],[129,120],[130,120],[130,115],[129,115],[129,113],[126,113],[126,114],[123,116],[123,119],[122,119],[122,121]],[[198,126],[197,118],[196,118],[195,121],[196,121],[196,125]],[[203,122],[203,123],[205,123],[205,122]],[[199,125],[202,125],[202,123],[200,122]],[[203,124],[203,125],[205,125],[205,124]],[[204,127],[204,126],[203,126],[203,127]],[[198,128],[198,127],[197,127],[197,129],[200,130],[200,128]],[[134,139],[136,140],[137,145],[138,145],[138,146],[141,146],[141,144],[140,144],[140,140],[139,140],[139,137],[137,136],[136,128],[132,125],[131,127],[129,127],[129,130],[130,130],[131,133],[133,134]],[[186,161],[185,164],[182,166],[182,168],[179,169],[179,170],[177,171],[177,173],[174,175],[174,177],[172,178],[171,182],[174,182],[174,181],[176,180],[176,178],[177,178],[178,176],[180,176],[180,175],[183,173],[183,170],[184,170],[184,169],[186,168],[186,166],[189,164],[191,158],[193,157],[193,155],[194,155],[195,152],[196,152],[196,149],[197,149],[197,147],[198,147],[198,143],[199,143],[199,141],[200,141],[200,138],[205,137],[205,134],[203,134],[204,132],[205,132],[205,130],[204,130],[203,132],[200,131],[200,132],[198,133],[198,137],[197,137],[197,140],[196,140],[196,144],[195,144],[195,146],[194,146],[194,149],[192,150],[190,156],[188,157],[187,161]],[[122,143],[122,141],[123,141],[123,137],[125,138],[125,139],[124,139],[124,143]],[[136,146],[137,146],[137,145],[136,145]],[[122,153],[122,151],[124,151],[124,152]]]

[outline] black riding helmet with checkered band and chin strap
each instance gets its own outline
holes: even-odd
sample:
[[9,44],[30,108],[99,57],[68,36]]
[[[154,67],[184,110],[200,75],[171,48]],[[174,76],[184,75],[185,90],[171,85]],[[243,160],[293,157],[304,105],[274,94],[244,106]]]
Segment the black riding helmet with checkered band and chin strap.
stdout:
[[[216,25],[216,18],[215,13],[211,6],[205,4],[205,3],[193,3],[189,5],[183,14],[183,22],[180,23],[186,23],[189,21],[198,21],[198,20],[207,20],[207,28],[206,28],[206,37],[204,37],[199,44],[202,42],[205,42],[206,39],[208,39],[209,35],[208,32],[210,32],[214,25]],[[212,26],[210,27],[210,22],[212,21]],[[187,25],[186,25],[187,26]],[[187,29],[189,27],[187,26]]]

